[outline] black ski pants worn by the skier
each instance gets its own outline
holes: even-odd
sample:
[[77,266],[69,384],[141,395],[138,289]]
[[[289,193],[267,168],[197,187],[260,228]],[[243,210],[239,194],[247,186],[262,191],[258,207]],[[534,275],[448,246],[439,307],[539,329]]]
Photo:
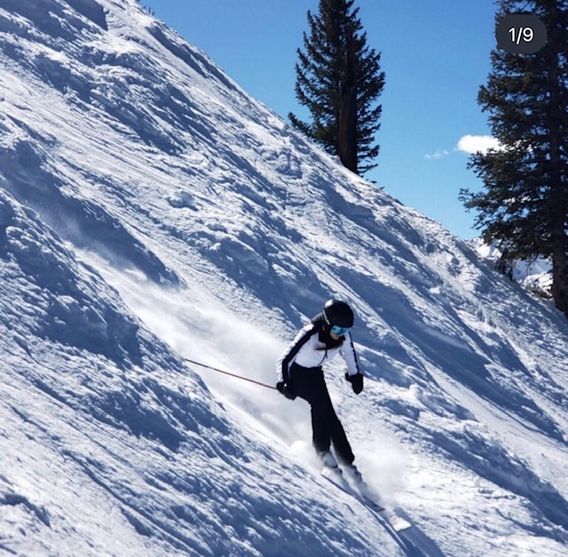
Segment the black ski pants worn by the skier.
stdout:
[[318,453],[329,451],[330,444],[334,443],[337,458],[344,464],[351,464],[355,457],[331,403],[322,368],[292,364],[290,379],[297,396],[304,398],[312,407],[312,441],[315,450]]

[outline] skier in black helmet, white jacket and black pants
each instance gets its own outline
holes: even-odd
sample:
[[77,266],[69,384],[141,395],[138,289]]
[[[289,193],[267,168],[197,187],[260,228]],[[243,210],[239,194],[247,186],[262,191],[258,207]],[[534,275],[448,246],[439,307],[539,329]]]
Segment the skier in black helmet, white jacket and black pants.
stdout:
[[355,459],[343,425],[331,402],[324,379],[322,365],[337,353],[347,365],[345,379],[355,394],[363,390],[363,374],[359,365],[350,329],[353,326],[351,307],[340,300],[329,300],[323,311],[297,333],[296,338],[277,363],[276,388],[287,398],[296,396],[306,400],[312,409],[312,443],[324,467],[338,470],[337,460],[330,451],[333,443],[339,462],[360,480],[353,464]]

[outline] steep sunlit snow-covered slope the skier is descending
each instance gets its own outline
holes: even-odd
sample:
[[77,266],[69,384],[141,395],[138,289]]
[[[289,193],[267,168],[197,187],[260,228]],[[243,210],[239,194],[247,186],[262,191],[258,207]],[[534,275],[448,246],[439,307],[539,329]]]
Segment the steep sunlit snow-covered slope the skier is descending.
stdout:
[[[0,549],[568,553],[568,327],[343,169],[134,0],[0,1]],[[327,370],[393,536],[272,385],[331,296]]]

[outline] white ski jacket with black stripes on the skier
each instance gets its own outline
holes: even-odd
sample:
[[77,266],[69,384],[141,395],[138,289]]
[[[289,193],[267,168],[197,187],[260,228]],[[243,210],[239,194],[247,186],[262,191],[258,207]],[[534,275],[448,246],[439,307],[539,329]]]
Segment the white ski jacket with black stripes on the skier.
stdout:
[[342,346],[328,349],[324,342],[319,341],[319,330],[317,326],[312,323],[304,326],[304,328],[296,334],[296,338],[276,364],[276,373],[279,382],[288,380],[289,370],[292,364],[296,363],[302,367],[321,367],[333,359],[338,352],[343,356],[345,364],[347,364],[347,373],[350,375],[360,373],[351,334],[345,333],[344,337],[345,340]]

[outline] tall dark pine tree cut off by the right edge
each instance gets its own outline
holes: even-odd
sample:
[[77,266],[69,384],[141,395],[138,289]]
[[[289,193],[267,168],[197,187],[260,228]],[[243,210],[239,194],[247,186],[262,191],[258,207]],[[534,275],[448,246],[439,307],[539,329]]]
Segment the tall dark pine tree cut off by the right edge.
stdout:
[[469,161],[481,192],[461,192],[476,226],[501,248],[501,268],[542,256],[552,261],[552,297],[568,317],[568,0],[501,0],[496,21],[530,12],[547,27],[534,54],[491,54],[477,101],[501,144]]

